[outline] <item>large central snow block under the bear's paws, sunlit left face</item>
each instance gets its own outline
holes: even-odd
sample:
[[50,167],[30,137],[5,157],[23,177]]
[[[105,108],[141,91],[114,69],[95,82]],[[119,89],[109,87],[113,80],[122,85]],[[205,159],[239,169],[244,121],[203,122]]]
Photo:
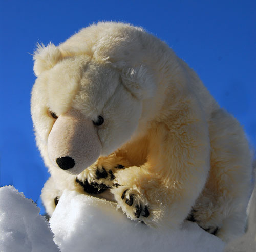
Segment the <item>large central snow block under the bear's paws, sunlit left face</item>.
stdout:
[[116,204],[65,191],[50,219],[61,252],[223,251],[225,243],[195,223],[181,230],[156,230],[129,220]]

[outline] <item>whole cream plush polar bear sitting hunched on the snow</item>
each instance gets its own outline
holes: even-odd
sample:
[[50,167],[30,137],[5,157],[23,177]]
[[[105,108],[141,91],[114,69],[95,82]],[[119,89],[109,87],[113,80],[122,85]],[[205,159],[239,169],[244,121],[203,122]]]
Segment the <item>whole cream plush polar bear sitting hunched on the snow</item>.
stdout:
[[252,167],[243,129],[167,44],[100,22],[38,45],[34,61],[50,216],[69,189],[115,200],[149,226],[188,219],[224,241],[243,233]]

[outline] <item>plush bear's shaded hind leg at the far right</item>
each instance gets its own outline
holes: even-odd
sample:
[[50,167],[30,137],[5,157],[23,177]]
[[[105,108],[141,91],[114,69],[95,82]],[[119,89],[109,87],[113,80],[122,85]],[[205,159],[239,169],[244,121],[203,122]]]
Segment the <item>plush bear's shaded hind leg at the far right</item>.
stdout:
[[188,219],[229,241],[243,234],[252,162],[248,143],[236,119],[220,109],[209,121],[209,178]]

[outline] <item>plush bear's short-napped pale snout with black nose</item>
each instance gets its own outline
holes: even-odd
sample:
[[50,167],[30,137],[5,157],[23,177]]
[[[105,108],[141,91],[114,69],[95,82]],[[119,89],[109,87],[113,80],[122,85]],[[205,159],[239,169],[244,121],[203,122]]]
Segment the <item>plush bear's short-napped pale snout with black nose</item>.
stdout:
[[97,127],[77,110],[62,114],[48,137],[48,155],[55,167],[79,174],[100,156]]

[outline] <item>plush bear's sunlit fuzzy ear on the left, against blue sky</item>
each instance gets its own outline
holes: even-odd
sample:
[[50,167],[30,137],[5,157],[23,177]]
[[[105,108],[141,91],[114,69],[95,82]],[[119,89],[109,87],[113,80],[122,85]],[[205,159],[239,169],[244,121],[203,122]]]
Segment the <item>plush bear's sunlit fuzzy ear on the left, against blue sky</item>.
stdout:
[[45,70],[51,69],[58,61],[63,58],[59,49],[52,43],[44,46],[37,43],[36,51],[33,55],[34,73],[36,77]]

